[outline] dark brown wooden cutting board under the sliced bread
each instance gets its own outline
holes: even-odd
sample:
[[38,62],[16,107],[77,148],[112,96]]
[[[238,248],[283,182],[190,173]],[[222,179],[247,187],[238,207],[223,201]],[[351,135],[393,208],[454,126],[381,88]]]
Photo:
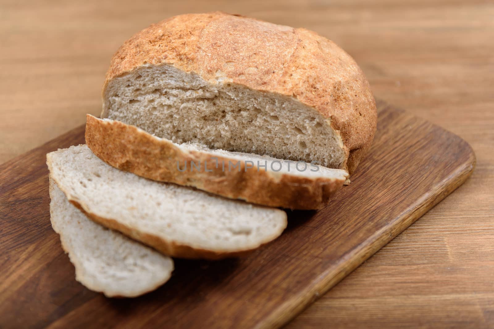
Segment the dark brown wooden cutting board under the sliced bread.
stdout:
[[[84,142],[76,128],[0,165],[0,328],[272,328],[295,317],[472,173],[461,138],[383,102],[352,184],[321,211],[242,259],[175,261],[163,287],[134,299],[85,289],[49,220],[45,154]],[[417,246],[419,248],[420,246]]]

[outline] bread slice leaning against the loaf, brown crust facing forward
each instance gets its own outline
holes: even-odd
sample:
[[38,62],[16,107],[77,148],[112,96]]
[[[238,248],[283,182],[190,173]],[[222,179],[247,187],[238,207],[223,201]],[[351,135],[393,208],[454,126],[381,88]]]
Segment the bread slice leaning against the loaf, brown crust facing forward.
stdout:
[[320,165],[179,145],[89,114],[86,143],[106,163],[139,176],[272,207],[320,209],[348,177]]

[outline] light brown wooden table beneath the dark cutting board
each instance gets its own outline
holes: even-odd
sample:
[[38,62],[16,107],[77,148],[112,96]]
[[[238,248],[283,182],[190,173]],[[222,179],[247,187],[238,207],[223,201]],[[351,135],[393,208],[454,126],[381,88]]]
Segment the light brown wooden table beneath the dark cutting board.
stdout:
[[494,327],[494,4],[326,2],[0,0],[0,163],[99,114],[111,55],[152,22],[220,9],[306,27],[376,98],[467,140],[477,168],[288,328]]

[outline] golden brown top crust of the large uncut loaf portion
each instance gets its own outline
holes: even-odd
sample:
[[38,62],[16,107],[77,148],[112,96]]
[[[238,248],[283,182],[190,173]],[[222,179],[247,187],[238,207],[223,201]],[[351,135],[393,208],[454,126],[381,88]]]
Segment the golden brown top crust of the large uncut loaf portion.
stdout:
[[[305,29],[222,12],[171,17],[136,33],[113,56],[109,81],[143,64],[173,65],[217,84],[294,97],[331,119],[351,173],[370,147],[376,107],[369,82],[334,42]],[[351,156],[350,156],[351,155]]]

